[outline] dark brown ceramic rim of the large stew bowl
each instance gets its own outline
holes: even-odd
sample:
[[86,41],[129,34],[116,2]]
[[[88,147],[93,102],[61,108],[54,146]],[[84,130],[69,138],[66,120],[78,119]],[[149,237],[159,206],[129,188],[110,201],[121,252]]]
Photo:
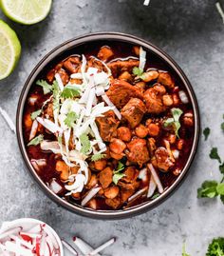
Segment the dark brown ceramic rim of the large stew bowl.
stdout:
[[[130,208],[121,209],[121,210],[92,210],[92,209],[84,208],[78,205],[73,205],[65,201],[64,199],[60,198],[58,195],[54,194],[49,189],[49,187],[47,187],[47,185],[41,180],[41,178],[37,175],[35,169],[31,166],[30,161],[28,160],[28,154],[27,154],[27,150],[25,148],[25,143],[23,140],[23,128],[22,128],[23,110],[24,110],[25,102],[28,96],[28,91],[31,85],[33,84],[34,80],[38,76],[38,74],[42,71],[42,69],[44,69],[49,64],[50,61],[52,61],[55,57],[59,56],[60,54],[63,54],[65,51],[76,48],[80,45],[84,45],[85,43],[90,43],[93,41],[103,41],[103,40],[121,41],[121,42],[130,43],[130,44],[140,45],[141,47],[158,55],[162,59],[162,61],[166,63],[168,67],[170,67],[171,69],[174,69],[174,71],[177,73],[178,78],[182,81],[185,89],[188,91],[190,100],[193,105],[193,111],[195,116],[195,134],[194,134],[193,146],[192,146],[190,155],[188,157],[188,160],[186,162],[186,165],[183,167],[180,175],[177,177],[177,180],[174,182],[174,184],[171,187],[168,187],[163,192],[163,194],[161,194],[157,199],[153,201],[148,201],[136,207],[130,207]],[[177,190],[177,187],[179,187],[179,185],[183,182],[184,178],[186,177],[186,174],[189,172],[189,168],[196,155],[199,132],[200,132],[200,120],[199,120],[199,110],[197,106],[196,95],[190,81],[184,74],[183,70],[180,69],[177,63],[175,62],[175,60],[172,57],[170,57],[166,52],[164,52],[162,49],[159,49],[152,43],[146,40],[143,40],[137,36],[120,33],[120,32],[105,31],[105,32],[85,34],[83,36],[79,36],[79,37],[75,37],[70,40],[67,40],[63,44],[59,45],[58,47],[50,50],[47,53],[47,55],[45,55],[42,58],[42,60],[35,66],[35,68],[32,69],[32,71],[30,72],[28,79],[21,91],[18,107],[17,107],[17,113],[16,113],[17,140],[18,140],[19,148],[22,153],[23,159],[28,167],[28,171],[31,174],[31,176],[34,178],[37,184],[44,190],[44,192],[47,194],[47,196],[51,200],[53,200],[60,206],[65,207],[66,209],[74,213],[77,213],[79,215],[83,215],[86,217],[90,217],[90,218],[95,218],[95,219],[115,220],[115,219],[129,218],[131,216],[138,215],[142,212],[145,212],[149,209],[159,206],[159,204],[161,204],[164,200],[166,200],[169,196],[171,196],[173,192]]]

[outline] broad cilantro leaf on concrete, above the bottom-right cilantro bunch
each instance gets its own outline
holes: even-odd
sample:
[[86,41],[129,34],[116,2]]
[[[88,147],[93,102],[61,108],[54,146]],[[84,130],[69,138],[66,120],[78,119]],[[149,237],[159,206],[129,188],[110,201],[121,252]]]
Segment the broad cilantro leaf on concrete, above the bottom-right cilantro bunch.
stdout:
[[215,198],[217,194],[217,182],[216,181],[205,181],[197,189],[197,198],[203,198],[203,197],[208,197],[208,198]]

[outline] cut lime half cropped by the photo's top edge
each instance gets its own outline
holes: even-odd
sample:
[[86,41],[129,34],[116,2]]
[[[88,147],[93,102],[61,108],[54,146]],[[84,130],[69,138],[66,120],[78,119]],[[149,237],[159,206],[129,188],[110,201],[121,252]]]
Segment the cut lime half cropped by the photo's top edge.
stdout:
[[9,19],[31,25],[44,20],[52,0],[0,0],[0,6]]

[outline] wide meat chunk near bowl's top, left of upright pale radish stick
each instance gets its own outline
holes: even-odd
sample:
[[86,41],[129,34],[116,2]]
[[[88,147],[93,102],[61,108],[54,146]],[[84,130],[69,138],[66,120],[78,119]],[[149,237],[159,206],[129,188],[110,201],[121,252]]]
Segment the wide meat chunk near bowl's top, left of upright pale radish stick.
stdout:
[[113,77],[118,77],[123,71],[132,73],[134,67],[139,67],[139,59],[128,59],[128,60],[117,60],[107,64],[108,68],[111,69]]

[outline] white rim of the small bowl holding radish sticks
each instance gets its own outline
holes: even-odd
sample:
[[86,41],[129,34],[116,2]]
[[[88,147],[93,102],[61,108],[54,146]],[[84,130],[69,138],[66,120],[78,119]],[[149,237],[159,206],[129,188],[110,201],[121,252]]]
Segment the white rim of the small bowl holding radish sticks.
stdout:
[[11,227],[14,226],[22,226],[23,224],[44,224],[47,226],[47,230],[54,236],[54,238],[56,239],[58,246],[60,248],[60,256],[64,256],[64,248],[63,248],[63,244],[62,244],[62,240],[60,238],[60,236],[58,235],[58,233],[54,230],[54,228],[52,226],[49,226],[46,222],[37,220],[37,219],[33,219],[33,218],[20,218],[20,219],[16,219],[13,221],[9,221],[9,222],[3,222],[2,226],[0,228],[0,234],[4,233],[6,231],[8,231]]

